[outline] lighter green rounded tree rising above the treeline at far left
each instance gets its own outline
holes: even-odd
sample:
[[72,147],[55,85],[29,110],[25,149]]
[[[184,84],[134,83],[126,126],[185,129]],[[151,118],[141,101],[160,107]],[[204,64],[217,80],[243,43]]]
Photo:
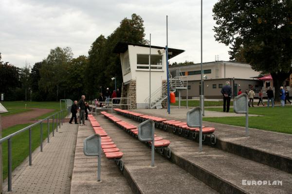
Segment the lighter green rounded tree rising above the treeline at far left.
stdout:
[[45,92],[53,94],[55,92],[56,100],[59,100],[59,94],[63,92],[66,97],[66,77],[68,64],[73,58],[71,48],[64,49],[56,47],[51,49],[50,54],[42,62],[39,70],[40,81],[39,88]]

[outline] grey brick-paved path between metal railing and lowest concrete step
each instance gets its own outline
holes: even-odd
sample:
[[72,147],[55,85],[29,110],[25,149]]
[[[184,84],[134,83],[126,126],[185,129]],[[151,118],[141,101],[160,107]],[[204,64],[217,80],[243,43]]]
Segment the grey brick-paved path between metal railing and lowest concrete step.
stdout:
[[[7,194],[70,194],[78,125],[64,123],[43,152],[33,153],[33,165],[26,159],[13,171],[12,192]],[[46,142],[45,140],[44,142]]]

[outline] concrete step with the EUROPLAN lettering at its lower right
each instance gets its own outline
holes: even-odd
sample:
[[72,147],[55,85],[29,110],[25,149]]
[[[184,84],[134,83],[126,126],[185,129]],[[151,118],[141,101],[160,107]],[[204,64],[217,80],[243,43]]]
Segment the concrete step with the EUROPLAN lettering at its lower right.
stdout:
[[[118,115],[123,120],[138,125],[136,121]],[[171,162],[177,164],[194,177],[225,194],[289,194],[292,191],[292,174],[258,163],[220,149],[203,146],[198,152],[198,143],[172,133],[156,129],[158,136],[168,139],[171,144]],[[282,181],[282,185],[244,185],[244,180]],[[248,182],[246,182],[248,184]],[[279,183],[280,184],[280,183]]]

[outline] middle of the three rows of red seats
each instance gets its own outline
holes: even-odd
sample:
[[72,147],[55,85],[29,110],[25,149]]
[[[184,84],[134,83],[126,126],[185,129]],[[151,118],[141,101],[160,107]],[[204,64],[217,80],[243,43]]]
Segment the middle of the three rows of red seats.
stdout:
[[[135,125],[132,125],[126,121],[122,121],[120,118],[107,113],[107,112],[100,112],[102,113],[106,118],[108,118],[110,121],[115,123],[119,128],[124,129],[129,134],[138,137],[138,128]],[[148,142],[149,145],[151,145],[151,142]],[[170,144],[169,140],[164,140],[162,137],[157,137],[156,134],[154,134],[154,147],[159,149],[163,147],[168,147]]]

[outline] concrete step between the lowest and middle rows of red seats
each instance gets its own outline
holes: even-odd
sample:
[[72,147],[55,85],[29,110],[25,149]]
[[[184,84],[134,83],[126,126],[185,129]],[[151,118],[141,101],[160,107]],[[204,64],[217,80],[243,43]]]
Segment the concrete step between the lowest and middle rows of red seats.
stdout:
[[123,174],[135,194],[216,194],[185,170],[155,153],[151,167],[151,149],[119,129],[104,116],[96,119],[124,153]]

